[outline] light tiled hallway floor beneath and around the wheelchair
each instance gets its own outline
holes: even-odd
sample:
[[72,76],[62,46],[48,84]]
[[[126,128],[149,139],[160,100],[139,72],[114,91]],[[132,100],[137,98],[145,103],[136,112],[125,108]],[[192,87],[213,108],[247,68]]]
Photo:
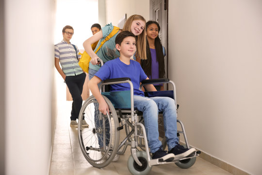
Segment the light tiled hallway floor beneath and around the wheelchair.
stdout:
[[[127,159],[131,155],[128,148],[117,162],[98,169],[91,166],[82,156],[78,143],[77,128],[70,127],[71,101],[58,103],[58,116],[53,143],[52,161],[49,175],[131,175],[127,168]],[[123,130],[121,130],[123,131]],[[120,134],[123,139],[124,133]],[[221,168],[197,157],[196,163],[189,169],[181,169],[174,164],[154,166],[149,175],[231,175]]]

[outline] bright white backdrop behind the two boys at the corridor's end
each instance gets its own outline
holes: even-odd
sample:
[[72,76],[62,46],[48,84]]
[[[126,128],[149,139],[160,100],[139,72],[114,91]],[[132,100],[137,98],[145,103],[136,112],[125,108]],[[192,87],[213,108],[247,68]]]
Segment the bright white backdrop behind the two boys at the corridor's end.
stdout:
[[98,23],[98,0],[56,0],[56,4],[54,44],[63,39],[62,29],[70,25],[74,29],[70,42],[83,49],[83,42],[92,36],[91,26]]

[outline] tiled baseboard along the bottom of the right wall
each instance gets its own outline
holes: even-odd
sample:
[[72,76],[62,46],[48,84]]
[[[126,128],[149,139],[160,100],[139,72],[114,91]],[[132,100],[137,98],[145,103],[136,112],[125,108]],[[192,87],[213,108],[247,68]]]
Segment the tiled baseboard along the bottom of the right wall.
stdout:
[[[183,142],[183,141],[180,141]],[[200,150],[201,151],[201,150]],[[232,175],[250,175],[248,173],[246,173],[243,170],[240,170],[239,168],[236,168],[232,165],[230,165],[229,163],[226,163],[218,158],[215,158],[213,156],[210,156],[209,154],[201,151],[201,154],[199,155],[200,158],[212,163],[213,165],[222,168],[223,170],[231,173]]]

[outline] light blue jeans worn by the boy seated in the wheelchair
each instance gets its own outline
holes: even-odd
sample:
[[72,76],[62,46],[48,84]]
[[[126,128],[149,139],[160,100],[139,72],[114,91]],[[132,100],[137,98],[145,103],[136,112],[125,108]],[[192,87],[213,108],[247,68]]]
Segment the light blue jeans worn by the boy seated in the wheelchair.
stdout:
[[164,132],[168,150],[170,151],[177,145],[179,139],[177,137],[177,111],[174,99],[134,95],[134,108],[143,112],[147,141],[151,153],[155,153],[162,146],[161,141],[158,139],[158,112],[163,112]]

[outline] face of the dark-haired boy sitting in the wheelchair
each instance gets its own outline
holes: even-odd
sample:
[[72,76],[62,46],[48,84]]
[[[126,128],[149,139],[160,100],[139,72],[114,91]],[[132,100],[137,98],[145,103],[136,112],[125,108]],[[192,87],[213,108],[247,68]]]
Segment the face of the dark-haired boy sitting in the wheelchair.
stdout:
[[121,55],[131,57],[136,51],[135,38],[133,36],[128,36],[123,39],[121,45],[116,44],[115,47]]

